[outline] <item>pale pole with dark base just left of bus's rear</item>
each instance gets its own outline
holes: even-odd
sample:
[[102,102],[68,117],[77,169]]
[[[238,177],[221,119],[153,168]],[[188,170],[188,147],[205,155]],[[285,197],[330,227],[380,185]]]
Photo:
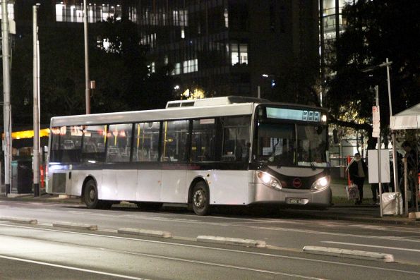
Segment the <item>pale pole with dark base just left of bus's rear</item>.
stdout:
[[33,157],[32,170],[34,178],[34,197],[40,196],[40,110],[39,110],[39,57],[38,57],[38,23],[37,23],[37,6],[32,6],[33,17]]

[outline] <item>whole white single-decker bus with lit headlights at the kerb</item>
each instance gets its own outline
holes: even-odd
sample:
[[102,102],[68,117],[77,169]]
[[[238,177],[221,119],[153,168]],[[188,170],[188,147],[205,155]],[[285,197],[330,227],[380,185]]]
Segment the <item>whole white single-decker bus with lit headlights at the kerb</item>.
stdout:
[[331,203],[327,111],[252,97],[168,102],[166,109],[51,119],[47,193],[88,208],[121,201]]

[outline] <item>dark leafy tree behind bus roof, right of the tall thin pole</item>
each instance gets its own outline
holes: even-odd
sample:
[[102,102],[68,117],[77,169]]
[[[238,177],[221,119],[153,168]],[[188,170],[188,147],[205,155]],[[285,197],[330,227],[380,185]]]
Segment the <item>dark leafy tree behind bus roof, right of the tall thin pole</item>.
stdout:
[[[94,32],[99,42],[95,50],[95,63],[99,67],[92,71],[92,77],[97,80],[97,91],[102,93],[94,95],[99,101],[96,104],[106,104],[114,96],[129,110],[164,108],[173,97],[174,82],[169,75],[172,66],[151,71],[145,59],[149,49],[140,44],[136,24],[127,18],[108,18],[97,23]],[[97,109],[109,111],[109,104]]]

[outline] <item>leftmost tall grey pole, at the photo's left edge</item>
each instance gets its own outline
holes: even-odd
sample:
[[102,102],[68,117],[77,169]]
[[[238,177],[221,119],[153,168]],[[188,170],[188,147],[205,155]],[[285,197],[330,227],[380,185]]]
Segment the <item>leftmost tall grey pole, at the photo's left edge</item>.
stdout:
[[12,159],[12,138],[11,138],[11,58],[10,44],[8,40],[8,14],[7,0],[1,1],[1,49],[3,59],[3,118],[4,118],[4,185],[5,193],[11,192],[11,159]]

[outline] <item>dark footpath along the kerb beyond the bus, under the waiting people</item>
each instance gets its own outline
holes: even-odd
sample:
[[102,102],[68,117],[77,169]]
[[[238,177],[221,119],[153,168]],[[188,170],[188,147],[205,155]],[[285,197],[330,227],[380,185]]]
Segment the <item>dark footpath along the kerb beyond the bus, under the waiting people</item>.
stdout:
[[[408,218],[405,215],[383,215],[383,217],[380,217],[380,208],[378,205],[373,204],[371,199],[371,185],[369,184],[364,185],[365,198],[361,205],[355,205],[354,200],[347,200],[345,185],[332,183],[331,188],[334,205],[328,209],[282,209],[282,213],[293,214],[294,217],[302,217],[304,219],[331,219],[378,224],[420,226],[420,217]],[[68,197],[66,195],[42,194],[40,197],[34,197],[33,194],[11,193],[6,197],[4,193],[4,186],[1,186],[0,191],[0,200],[20,202],[56,202],[83,205],[80,198]],[[164,207],[172,207],[172,205],[164,204]]]

